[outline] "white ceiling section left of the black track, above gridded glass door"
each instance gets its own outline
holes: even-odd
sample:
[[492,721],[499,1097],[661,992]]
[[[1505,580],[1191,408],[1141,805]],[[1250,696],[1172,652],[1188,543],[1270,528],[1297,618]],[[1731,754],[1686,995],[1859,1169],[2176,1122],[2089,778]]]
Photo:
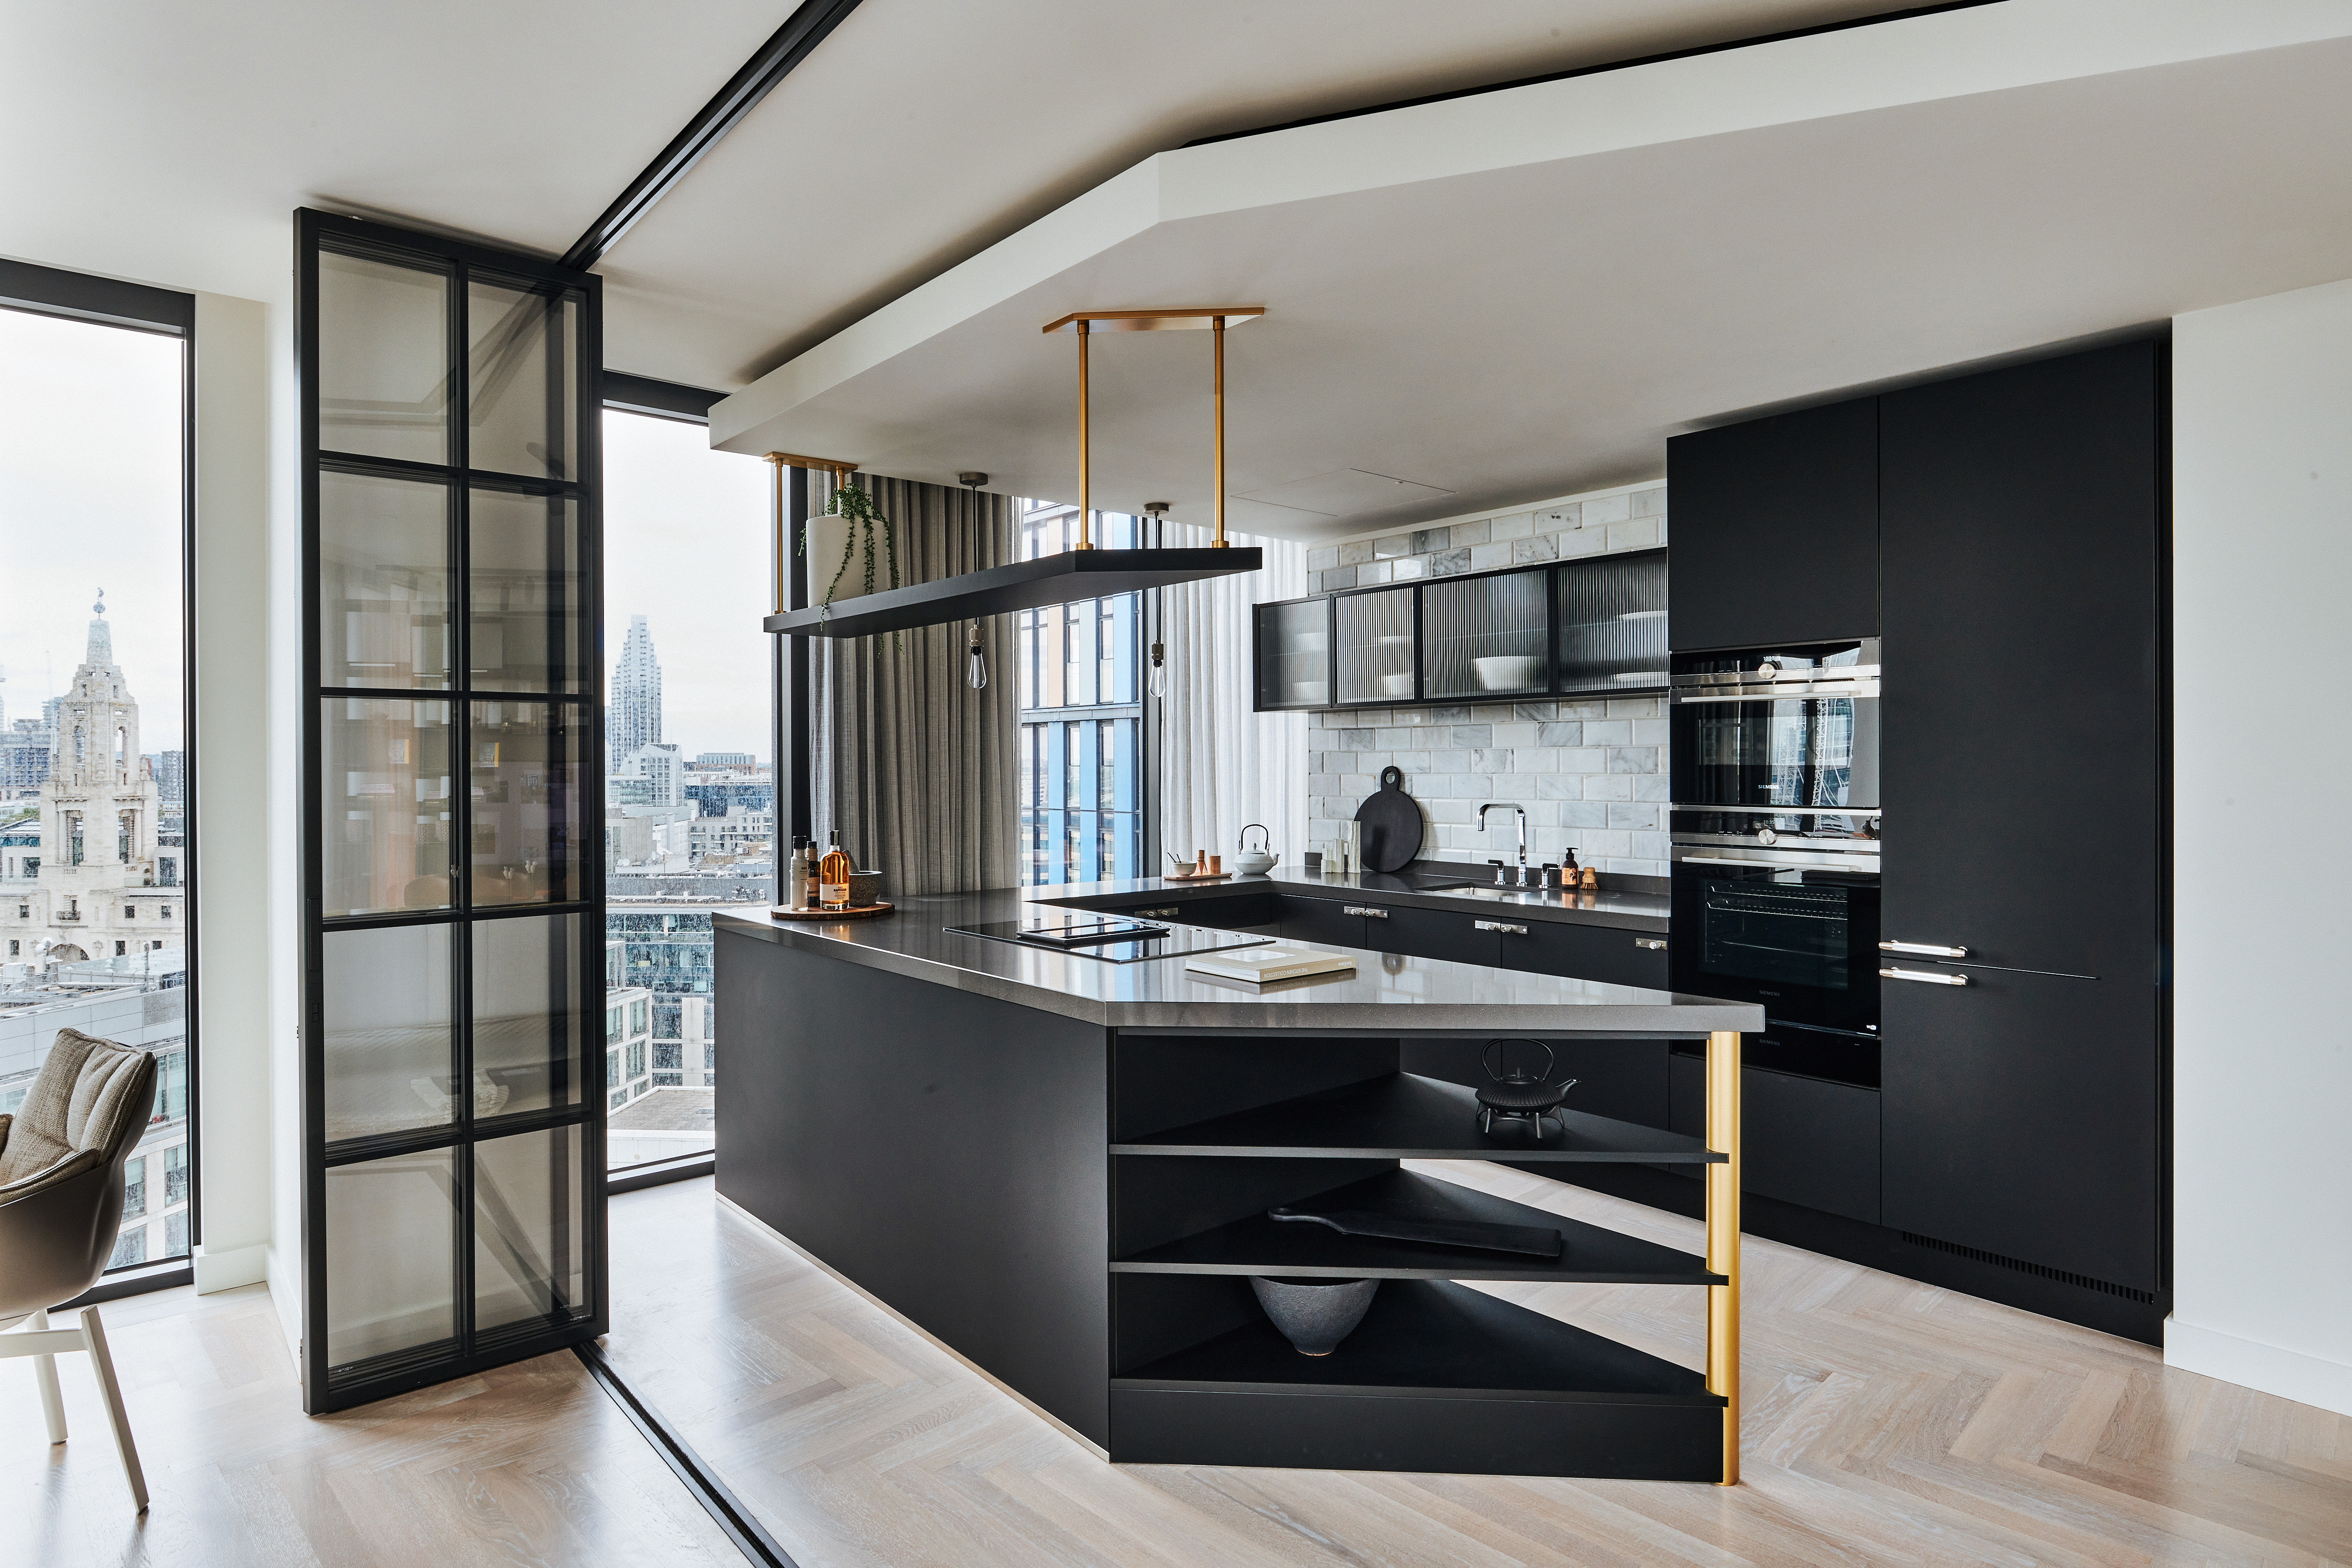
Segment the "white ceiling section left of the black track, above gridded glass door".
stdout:
[[776,31],[779,0],[652,16],[0,0],[0,254],[285,299],[301,205],[560,254]]

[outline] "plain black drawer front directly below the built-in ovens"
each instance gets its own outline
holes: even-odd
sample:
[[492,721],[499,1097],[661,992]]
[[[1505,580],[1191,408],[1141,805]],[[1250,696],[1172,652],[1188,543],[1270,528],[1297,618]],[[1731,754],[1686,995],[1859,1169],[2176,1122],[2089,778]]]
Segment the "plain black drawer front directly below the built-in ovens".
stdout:
[[[1672,1128],[1708,1133],[1708,1065],[1675,1056]],[[1764,1067],[1740,1070],[1740,1187],[1867,1225],[1879,1222],[1879,1091]]]

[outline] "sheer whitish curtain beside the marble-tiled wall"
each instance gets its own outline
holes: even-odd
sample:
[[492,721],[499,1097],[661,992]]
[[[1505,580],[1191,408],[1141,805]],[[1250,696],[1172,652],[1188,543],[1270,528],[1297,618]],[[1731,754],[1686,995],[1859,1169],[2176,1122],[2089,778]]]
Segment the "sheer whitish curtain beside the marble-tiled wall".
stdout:
[[[1265,567],[1160,590],[1169,646],[1160,844],[1230,858],[1242,827],[1263,823],[1282,863],[1296,865],[1310,849],[1308,715],[1251,712],[1249,630],[1254,604],[1305,597],[1308,550],[1287,538],[1230,538],[1265,550]],[[1200,548],[1209,531],[1169,524],[1167,543]]]

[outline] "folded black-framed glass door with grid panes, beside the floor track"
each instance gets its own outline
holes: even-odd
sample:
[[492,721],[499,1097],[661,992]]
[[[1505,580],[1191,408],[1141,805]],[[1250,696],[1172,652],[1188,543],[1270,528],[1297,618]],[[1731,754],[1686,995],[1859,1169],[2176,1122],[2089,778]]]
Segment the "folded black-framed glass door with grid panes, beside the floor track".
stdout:
[[604,1333],[597,277],[296,214],[303,1408]]

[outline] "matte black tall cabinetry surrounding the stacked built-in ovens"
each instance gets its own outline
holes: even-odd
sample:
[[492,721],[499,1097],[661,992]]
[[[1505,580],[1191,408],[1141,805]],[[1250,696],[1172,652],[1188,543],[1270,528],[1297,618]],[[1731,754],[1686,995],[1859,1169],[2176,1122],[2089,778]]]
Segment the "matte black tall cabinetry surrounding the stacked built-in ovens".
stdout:
[[1813,1081],[1748,1095],[1750,1229],[2143,1340],[2169,1305],[2166,418],[2140,341],[1668,444],[1675,651],[1879,635],[1879,936],[1966,950],[1884,957],[1929,980],[1879,985],[1851,1051],[1875,1074],[1752,1041],[1750,1079]]

